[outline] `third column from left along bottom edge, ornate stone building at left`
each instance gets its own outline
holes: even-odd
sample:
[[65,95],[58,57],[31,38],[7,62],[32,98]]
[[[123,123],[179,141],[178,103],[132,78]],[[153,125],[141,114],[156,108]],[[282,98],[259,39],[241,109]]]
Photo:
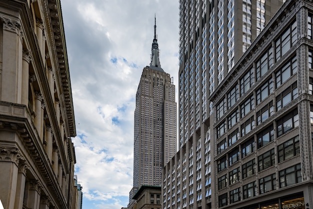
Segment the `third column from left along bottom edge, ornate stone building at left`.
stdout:
[[29,181],[27,207],[39,209],[41,183],[38,180]]

